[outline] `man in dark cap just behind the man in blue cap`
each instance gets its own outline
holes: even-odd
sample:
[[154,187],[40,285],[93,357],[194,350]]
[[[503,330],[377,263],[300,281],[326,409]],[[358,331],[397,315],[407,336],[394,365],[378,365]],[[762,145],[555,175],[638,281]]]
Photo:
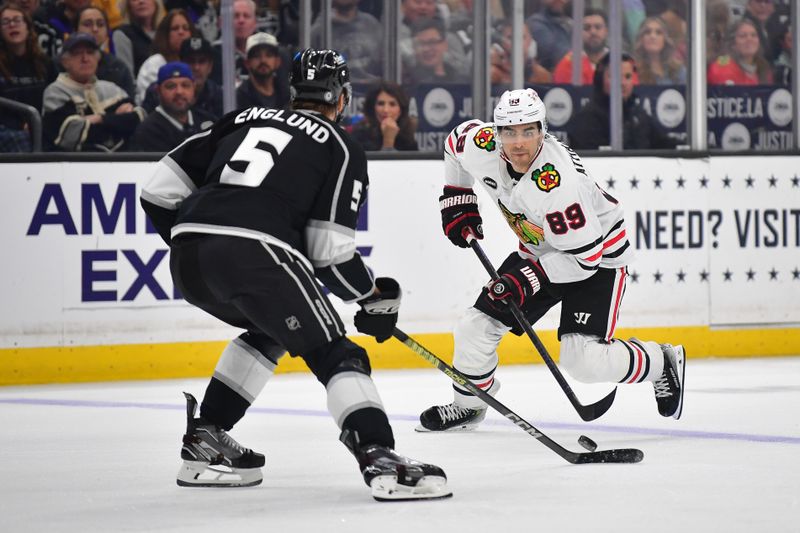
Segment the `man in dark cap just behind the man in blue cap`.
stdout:
[[[202,37],[189,37],[181,43],[180,59],[189,65],[194,76],[195,99],[192,109],[202,109],[214,117],[214,120],[223,115],[222,112],[222,87],[214,80],[209,79],[214,67],[214,50],[211,43]],[[154,83],[147,89],[142,107],[152,113],[159,104],[158,84]]]

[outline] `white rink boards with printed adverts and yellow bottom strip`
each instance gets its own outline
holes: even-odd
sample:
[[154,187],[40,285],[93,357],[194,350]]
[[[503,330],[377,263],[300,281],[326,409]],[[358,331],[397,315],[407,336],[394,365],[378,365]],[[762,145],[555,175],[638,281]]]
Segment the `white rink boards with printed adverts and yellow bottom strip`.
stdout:
[[[800,157],[588,158],[626,212],[636,249],[620,336],[680,342],[691,357],[800,353]],[[237,330],[186,304],[166,245],[138,205],[151,162],[5,163],[0,180],[0,384],[206,376]],[[556,169],[558,170],[558,169]],[[371,161],[357,243],[404,290],[399,326],[444,359],[487,277],[441,233],[439,161]],[[515,236],[476,184],[495,264]],[[335,301],[351,331],[353,305]],[[557,357],[558,309],[537,325]],[[396,341],[375,367],[427,363]],[[509,336],[503,363],[537,362]],[[285,358],[282,371],[303,370]]]

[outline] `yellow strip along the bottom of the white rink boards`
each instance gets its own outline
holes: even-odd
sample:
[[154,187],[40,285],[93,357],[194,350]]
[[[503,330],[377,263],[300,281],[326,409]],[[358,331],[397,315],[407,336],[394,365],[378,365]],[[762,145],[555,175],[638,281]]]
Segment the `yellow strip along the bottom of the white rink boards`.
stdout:
[[[558,360],[555,331],[539,336]],[[800,328],[712,329],[707,326],[631,328],[617,331],[620,338],[683,344],[690,358],[800,355]],[[453,356],[449,333],[420,333],[412,337],[443,360]],[[366,348],[373,368],[425,368],[429,363],[397,340],[378,344],[372,337],[353,340]],[[227,344],[186,342],[0,349],[0,385],[78,383],[210,377]],[[527,337],[506,335],[498,349],[501,364],[540,363]],[[284,357],[278,372],[307,372],[299,357]]]

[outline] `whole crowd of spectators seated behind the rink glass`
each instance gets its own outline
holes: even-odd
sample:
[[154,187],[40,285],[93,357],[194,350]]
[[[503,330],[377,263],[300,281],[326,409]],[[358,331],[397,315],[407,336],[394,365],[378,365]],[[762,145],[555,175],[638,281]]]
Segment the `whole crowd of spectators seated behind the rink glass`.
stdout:
[[[471,82],[472,2],[401,0],[397,49],[402,85],[397,85],[383,79],[384,2],[330,1],[332,45],[348,58],[352,81],[364,95],[356,100],[363,109],[351,110],[356,119],[348,127],[370,150],[415,150],[417,110],[409,95],[418,86]],[[49,149],[144,150],[153,149],[148,143],[158,137],[159,149],[168,150],[170,143],[222,115],[219,3],[7,0],[0,5],[0,97],[41,113]],[[311,40],[317,47],[323,44],[320,3],[312,2]],[[512,80],[511,4],[488,2],[489,73],[496,85]],[[593,86],[595,93],[586,112],[573,122],[589,120],[589,115],[597,120],[607,106],[602,83],[607,72],[598,74],[608,61],[607,4],[585,2],[577,84]],[[710,86],[790,83],[789,0],[708,0],[705,5]],[[299,40],[298,6],[296,0],[234,0],[237,106],[288,103],[288,66]],[[574,85],[571,3],[529,0],[524,9],[525,84]],[[631,76],[623,80],[624,88],[631,85],[635,94],[637,84],[686,83],[687,11],[688,0],[625,0],[624,64]],[[626,128],[643,120],[638,111],[631,114],[634,101],[626,96]],[[0,150],[29,150],[25,116],[4,108],[0,117]],[[173,128],[165,129],[169,135],[136,133],[167,126]]]

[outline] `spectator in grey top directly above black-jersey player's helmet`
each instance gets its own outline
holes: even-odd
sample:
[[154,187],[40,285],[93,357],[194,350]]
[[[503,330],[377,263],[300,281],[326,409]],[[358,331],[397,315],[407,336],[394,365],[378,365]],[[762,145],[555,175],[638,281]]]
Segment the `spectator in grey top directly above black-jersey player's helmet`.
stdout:
[[[350,79],[374,81],[381,75],[383,26],[358,8],[359,0],[332,0],[332,46],[347,58]],[[322,16],[311,26],[311,46],[325,48],[322,42]]]

